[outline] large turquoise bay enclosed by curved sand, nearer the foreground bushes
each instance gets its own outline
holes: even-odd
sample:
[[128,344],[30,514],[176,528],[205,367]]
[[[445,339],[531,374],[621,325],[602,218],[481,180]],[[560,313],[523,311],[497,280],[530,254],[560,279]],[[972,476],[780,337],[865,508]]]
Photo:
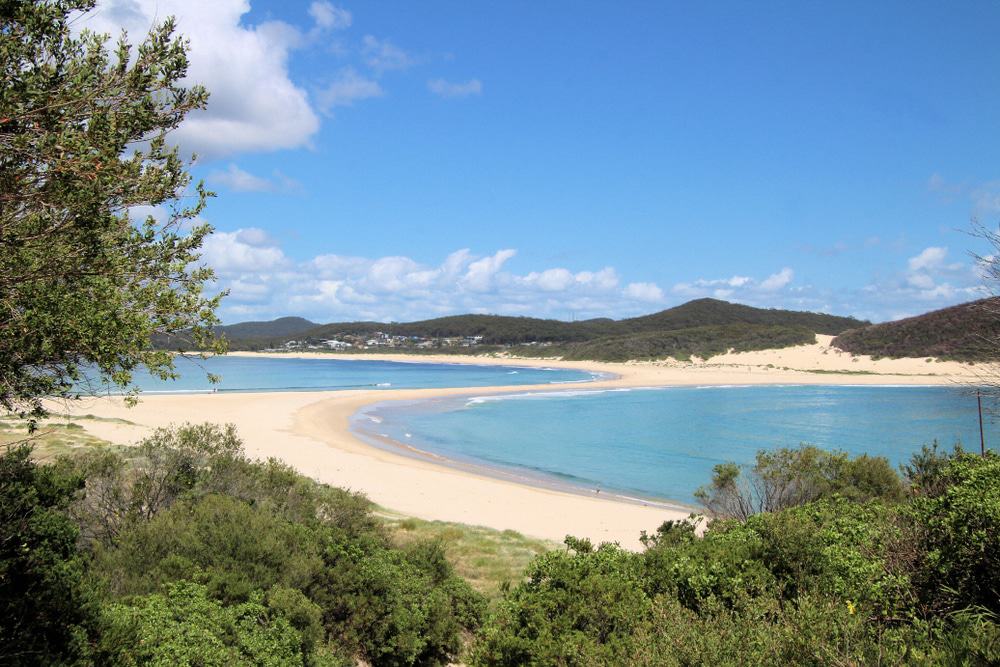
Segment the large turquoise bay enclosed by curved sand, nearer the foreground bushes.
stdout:
[[[937,439],[979,447],[956,387],[767,386],[570,391],[372,406],[355,431],[513,475],[693,502],[717,463],[810,443],[894,465]],[[987,444],[1000,429],[986,419]]]

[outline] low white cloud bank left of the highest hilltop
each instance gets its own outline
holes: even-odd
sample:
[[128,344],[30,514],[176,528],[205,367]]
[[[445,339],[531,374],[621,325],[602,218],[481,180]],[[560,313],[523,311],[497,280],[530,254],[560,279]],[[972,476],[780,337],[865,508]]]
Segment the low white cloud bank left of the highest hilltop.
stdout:
[[568,318],[628,316],[663,301],[654,283],[620,286],[611,267],[573,272],[552,267],[512,273],[512,249],[477,256],[460,249],[439,264],[405,256],[324,254],[295,262],[260,229],[217,232],[204,248],[227,321],[298,314],[317,320],[413,320],[482,312]]

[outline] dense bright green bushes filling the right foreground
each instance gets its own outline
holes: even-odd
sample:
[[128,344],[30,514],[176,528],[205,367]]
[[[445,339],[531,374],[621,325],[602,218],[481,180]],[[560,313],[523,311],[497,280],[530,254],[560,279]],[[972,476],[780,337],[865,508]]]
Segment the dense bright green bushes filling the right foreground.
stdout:
[[928,456],[904,494],[877,460],[776,453],[762,469],[812,489],[786,509],[702,536],[668,522],[641,554],[570,539],[504,598],[472,663],[996,664],[1000,458]]

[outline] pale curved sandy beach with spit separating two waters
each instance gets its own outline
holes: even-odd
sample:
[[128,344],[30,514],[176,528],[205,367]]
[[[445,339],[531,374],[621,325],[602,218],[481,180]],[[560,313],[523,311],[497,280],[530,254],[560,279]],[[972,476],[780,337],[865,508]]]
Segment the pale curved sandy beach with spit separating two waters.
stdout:
[[[830,339],[819,336],[814,345],[727,354],[707,362],[612,364],[399,354],[295,353],[294,356],[558,366],[598,371],[613,377],[585,385],[593,389],[733,384],[956,384],[975,381],[982,373],[981,368],[957,362],[852,356],[831,348]],[[529,486],[418,460],[372,447],[350,430],[351,416],[376,402],[560,388],[579,390],[581,385],[147,395],[131,408],[122,399],[109,397],[72,403],[68,411],[71,415],[93,414],[132,422],[79,422],[95,436],[122,444],[174,423],[233,423],[245,441],[248,455],[281,459],[309,477],[360,491],[383,507],[422,519],[512,529],[556,541],[572,534],[638,548],[641,531],[655,530],[668,519],[686,517],[688,508],[648,506],[606,494]],[[54,409],[66,412],[62,405]]]

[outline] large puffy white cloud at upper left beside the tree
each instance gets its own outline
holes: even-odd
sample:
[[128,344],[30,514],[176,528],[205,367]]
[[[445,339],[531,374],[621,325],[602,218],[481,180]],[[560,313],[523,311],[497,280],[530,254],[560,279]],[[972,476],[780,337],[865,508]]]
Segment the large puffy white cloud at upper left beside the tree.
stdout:
[[287,65],[302,35],[280,21],[247,25],[249,11],[246,0],[102,0],[74,28],[113,37],[125,28],[138,42],[166,16],[177,18],[178,33],[191,44],[186,81],[211,93],[208,108],[189,114],[172,134],[185,152],[219,157],[307,146],[319,118]]

